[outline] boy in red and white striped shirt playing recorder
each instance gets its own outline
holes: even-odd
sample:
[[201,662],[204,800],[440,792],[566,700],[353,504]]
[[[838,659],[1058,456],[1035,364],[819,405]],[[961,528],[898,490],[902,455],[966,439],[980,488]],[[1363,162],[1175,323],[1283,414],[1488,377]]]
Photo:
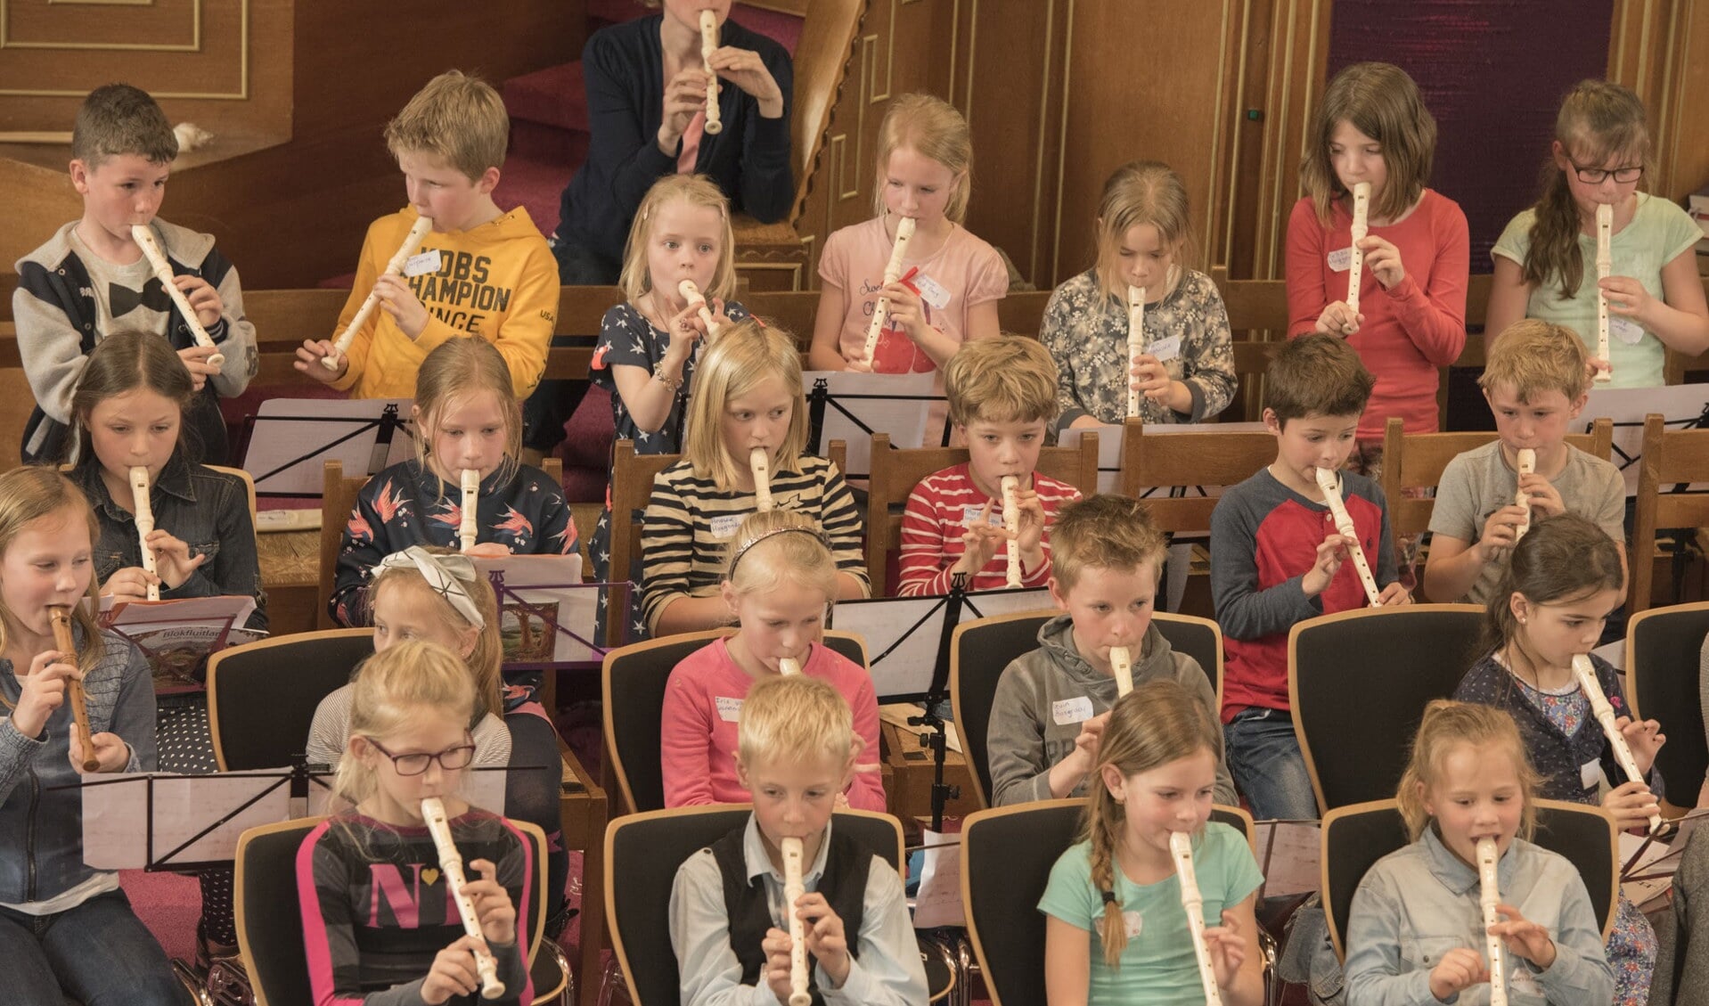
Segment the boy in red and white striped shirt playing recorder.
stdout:
[[1007,586],[1003,477],[1020,478],[1020,582],[1051,577],[1049,524],[1080,490],[1039,475],[1039,449],[1056,418],[1056,364],[1037,340],[979,338],[943,367],[950,424],[967,461],[919,480],[902,512],[897,594],[947,594],[955,574],[969,591]]

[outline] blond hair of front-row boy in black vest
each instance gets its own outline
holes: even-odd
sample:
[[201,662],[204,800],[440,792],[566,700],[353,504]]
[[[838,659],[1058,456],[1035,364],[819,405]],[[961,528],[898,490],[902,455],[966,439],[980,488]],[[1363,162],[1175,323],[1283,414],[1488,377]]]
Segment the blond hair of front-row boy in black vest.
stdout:
[[737,760],[752,770],[759,762],[810,763],[854,760],[854,716],[829,681],[807,675],[761,678],[742,700]]

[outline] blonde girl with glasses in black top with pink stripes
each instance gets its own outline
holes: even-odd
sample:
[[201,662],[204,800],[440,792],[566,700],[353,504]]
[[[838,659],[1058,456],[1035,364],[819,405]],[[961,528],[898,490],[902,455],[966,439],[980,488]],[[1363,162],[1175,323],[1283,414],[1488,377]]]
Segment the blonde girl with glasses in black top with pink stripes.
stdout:
[[[302,839],[297,892],[314,1003],[439,1006],[477,1003],[475,955],[490,953],[502,999],[531,1003],[526,921],[533,847],[502,816],[456,796],[475,757],[475,681],[432,642],[400,642],[362,664],[333,815]],[[422,799],[444,803],[463,857],[463,895],[480,921],[463,931],[446,890]]]

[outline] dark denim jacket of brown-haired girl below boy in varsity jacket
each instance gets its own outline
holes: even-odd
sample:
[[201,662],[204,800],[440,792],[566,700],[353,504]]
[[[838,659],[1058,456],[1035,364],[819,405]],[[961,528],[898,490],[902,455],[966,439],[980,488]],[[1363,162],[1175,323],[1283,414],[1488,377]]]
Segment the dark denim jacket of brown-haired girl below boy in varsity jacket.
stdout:
[[[70,478],[89,497],[89,506],[101,521],[96,576],[104,582],[120,569],[142,565],[137,518],[130,509],[113,502],[113,494],[101,482],[101,463],[84,458],[70,471]],[[208,557],[178,588],[167,589],[162,584],[161,600],[250,594],[255,598],[255,615],[250,617],[248,627],[267,629],[267,593],[261,591],[255,524],[250,523],[250,494],[243,480],[203,465],[191,465],[183,451],[173,451],[150,487],[149,506],[154,511],[156,528],[190,545],[191,557]]]

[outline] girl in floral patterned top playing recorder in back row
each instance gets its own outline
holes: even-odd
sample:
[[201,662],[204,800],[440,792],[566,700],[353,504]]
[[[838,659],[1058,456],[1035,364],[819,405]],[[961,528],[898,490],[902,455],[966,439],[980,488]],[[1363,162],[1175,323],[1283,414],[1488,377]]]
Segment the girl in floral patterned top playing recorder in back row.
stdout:
[[[1130,383],[1145,422],[1203,422],[1227,408],[1229,313],[1210,277],[1186,266],[1191,232],[1186,188],[1167,164],[1133,161],[1104,183],[1097,265],[1056,287],[1039,330],[1056,360],[1060,429],[1119,424]],[[1131,362],[1128,287],[1145,290],[1145,350]]]

